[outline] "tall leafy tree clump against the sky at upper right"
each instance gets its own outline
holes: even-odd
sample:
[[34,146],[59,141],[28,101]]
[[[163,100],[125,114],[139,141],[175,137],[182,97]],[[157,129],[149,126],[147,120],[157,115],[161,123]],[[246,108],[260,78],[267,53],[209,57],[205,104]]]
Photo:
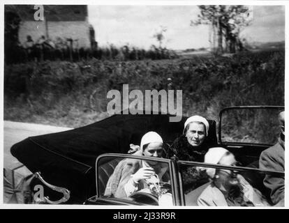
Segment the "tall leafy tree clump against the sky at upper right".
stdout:
[[[200,15],[198,15],[198,20],[191,20],[191,26],[198,24],[211,26],[209,38],[214,53],[235,53],[236,50],[243,49],[239,33],[244,26],[248,26],[251,22],[249,17],[251,11],[248,7],[222,5],[198,7]],[[223,43],[225,43],[225,49]]]

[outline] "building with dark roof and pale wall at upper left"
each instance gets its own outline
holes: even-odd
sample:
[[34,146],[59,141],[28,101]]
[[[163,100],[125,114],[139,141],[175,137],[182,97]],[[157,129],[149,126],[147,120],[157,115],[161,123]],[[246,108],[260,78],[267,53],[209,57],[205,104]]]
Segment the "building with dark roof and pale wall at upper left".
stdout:
[[63,40],[73,47],[89,48],[95,45],[94,29],[88,22],[88,10],[85,5],[43,5],[42,20],[35,20],[40,15],[40,8],[34,5],[6,5],[6,11],[13,11],[20,17],[18,32],[19,42],[23,45],[27,36],[34,43],[42,36],[53,42]]

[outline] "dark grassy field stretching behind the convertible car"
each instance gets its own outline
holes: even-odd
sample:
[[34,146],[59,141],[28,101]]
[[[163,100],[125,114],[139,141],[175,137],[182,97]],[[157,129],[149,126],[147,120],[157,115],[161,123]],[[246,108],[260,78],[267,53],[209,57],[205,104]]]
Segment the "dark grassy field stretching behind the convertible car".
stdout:
[[[4,120],[77,128],[108,116],[107,93],[182,90],[183,114],[217,121],[223,107],[284,105],[285,52],[274,49],[213,57],[5,65]],[[168,82],[172,79],[172,84]]]

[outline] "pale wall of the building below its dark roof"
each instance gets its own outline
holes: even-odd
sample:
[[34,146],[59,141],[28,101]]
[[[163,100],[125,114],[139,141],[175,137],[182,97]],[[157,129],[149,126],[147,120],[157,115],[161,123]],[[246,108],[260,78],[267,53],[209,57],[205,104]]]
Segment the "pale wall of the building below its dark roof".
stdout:
[[[90,47],[89,23],[87,21],[59,21],[47,22],[48,36],[52,40],[57,37],[66,40],[72,38],[78,40],[78,47]],[[23,44],[30,35],[34,43],[40,36],[46,36],[45,21],[25,21],[21,24],[18,33],[20,43]],[[73,45],[75,47],[75,45]]]

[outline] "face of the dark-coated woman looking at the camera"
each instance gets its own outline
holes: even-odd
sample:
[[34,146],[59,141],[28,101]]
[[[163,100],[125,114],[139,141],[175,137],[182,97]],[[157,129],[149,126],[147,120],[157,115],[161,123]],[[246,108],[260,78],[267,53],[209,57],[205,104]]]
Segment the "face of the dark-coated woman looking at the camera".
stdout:
[[186,139],[192,146],[200,146],[206,137],[206,128],[203,123],[189,123],[186,131]]

